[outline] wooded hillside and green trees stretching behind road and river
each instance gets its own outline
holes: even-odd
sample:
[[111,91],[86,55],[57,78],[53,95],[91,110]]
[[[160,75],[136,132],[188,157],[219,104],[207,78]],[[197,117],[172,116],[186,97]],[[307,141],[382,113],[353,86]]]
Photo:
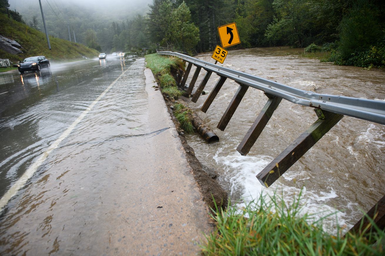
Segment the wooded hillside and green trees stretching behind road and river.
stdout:
[[[230,49],[285,45],[328,52],[325,60],[340,65],[385,65],[383,0],[150,1],[123,1],[109,10],[42,3],[50,35],[69,40],[75,33],[77,42],[101,52],[155,49],[158,43],[189,54],[209,52],[219,44],[217,27],[236,22],[241,44]],[[123,8],[129,11],[118,12]],[[25,23],[42,30],[39,5],[20,13]]]

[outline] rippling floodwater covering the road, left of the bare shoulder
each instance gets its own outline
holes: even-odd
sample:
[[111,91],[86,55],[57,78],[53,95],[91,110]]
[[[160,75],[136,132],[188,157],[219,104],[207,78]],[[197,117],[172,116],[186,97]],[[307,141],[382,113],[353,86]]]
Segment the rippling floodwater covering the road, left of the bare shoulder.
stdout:
[[0,75],[1,255],[122,254],[127,175],[140,179],[127,152],[152,136],[143,70],[107,58]]

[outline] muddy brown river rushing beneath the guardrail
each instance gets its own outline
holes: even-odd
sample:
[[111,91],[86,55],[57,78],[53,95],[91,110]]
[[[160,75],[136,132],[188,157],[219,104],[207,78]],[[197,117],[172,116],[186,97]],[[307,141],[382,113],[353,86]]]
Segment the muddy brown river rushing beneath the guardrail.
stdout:
[[[223,66],[277,81],[301,90],[372,100],[385,100],[385,71],[373,68],[336,66],[300,57],[302,50],[286,47],[232,50]],[[214,62],[211,53],[198,58]],[[218,63],[220,65],[220,63]],[[194,68],[190,72],[191,80]],[[203,79],[201,71],[196,86]],[[211,91],[219,76],[213,74],[204,90]],[[261,191],[283,194],[293,201],[303,189],[303,212],[325,216],[336,212],[340,226],[351,228],[385,194],[385,126],[345,116],[271,187],[255,177],[313,122],[313,108],[283,100],[247,156],[236,151],[259,111],[267,101],[262,91],[249,88],[227,128],[216,128],[238,84],[226,80],[207,113],[200,111],[206,100],[189,102],[214,132],[219,142],[207,144],[198,135],[188,143],[197,158],[219,171],[219,182],[240,206],[257,199]],[[321,213],[322,211],[326,211]],[[334,233],[336,216],[324,221]]]

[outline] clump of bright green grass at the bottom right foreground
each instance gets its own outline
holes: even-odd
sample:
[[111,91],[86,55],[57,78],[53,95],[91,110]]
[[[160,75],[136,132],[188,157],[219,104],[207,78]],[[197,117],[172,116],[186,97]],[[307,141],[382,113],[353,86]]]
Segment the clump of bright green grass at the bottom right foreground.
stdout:
[[206,236],[203,255],[385,255],[383,231],[331,236],[323,231],[322,220],[299,216],[298,202],[285,206],[278,196],[261,196],[241,214],[231,206],[217,209],[212,215],[216,231]]

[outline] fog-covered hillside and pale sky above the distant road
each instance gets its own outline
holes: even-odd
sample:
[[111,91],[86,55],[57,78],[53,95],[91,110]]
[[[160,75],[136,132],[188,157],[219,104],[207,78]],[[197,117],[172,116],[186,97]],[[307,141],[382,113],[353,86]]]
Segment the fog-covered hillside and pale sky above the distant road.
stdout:
[[[38,0],[8,0],[30,27],[44,32]],[[50,37],[76,41],[98,51],[142,48],[152,0],[41,0]],[[138,37],[138,38],[136,38]]]

